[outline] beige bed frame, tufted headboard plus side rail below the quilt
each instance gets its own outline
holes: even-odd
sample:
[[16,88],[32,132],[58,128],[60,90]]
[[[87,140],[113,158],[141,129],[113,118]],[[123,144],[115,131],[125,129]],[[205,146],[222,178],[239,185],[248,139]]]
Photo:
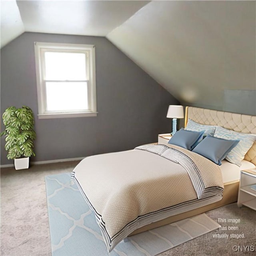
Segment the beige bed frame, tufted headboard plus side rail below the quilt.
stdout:
[[[200,124],[218,125],[229,130],[234,130],[236,132],[256,134],[256,116],[249,116],[237,113],[187,106],[185,112],[185,127],[189,118]],[[252,148],[247,152],[244,159],[256,165],[256,142],[253,144]],[[157,222],[153,222],[151,224],[143,226],[142,228],[138,228],[137,230],[132,232],[130,236],[144,232],[146,230],[150,230],[152,228],[164,226],[166,224],[170,224],[172,222],[176,222],[178,220],[182,220],[203,212],[207,212],[209,210],[218,208],[220,206],[224,206],[226,204],[236,202],[238,197],[238,186],[239,180],[226,182],[224,183],[224,192],[222,200],[215,202],[213,204],[208,204],[206,206],[196,208],[194,210],[190,210],[188,212],[183,212],[181,214],[170,216],[169,218]]]

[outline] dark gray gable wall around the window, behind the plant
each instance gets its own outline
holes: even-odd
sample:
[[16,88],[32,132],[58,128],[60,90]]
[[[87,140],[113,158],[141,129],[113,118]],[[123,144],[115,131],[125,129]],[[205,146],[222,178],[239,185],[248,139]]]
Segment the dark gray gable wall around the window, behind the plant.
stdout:
[[[96,45],[97,117],[38,119],[35,41]],[[77,158],[156,142],[159,133],[171,129],[166,118],[169,104],[179,102],[103,37],[26,32],[1,49],[1,116],[9,106],[32,108],[37,134],[32,161]],[[12,164],[4,144],[2,137],[1,164]]]

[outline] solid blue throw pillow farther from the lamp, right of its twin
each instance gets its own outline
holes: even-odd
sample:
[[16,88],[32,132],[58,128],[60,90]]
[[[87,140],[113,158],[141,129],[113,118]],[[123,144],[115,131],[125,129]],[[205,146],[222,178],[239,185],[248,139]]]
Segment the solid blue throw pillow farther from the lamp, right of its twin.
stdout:
[[221,161],[239,141],[240,140],[225,140],[207,135],[192,152],[208,158],[215,164],[221,165]]

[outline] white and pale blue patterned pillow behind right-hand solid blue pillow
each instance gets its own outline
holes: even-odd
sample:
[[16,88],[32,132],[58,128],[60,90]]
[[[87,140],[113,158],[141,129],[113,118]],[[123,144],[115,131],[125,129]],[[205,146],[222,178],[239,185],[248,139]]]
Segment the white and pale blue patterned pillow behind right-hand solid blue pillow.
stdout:
[[234,132],[220,126],[216,127],[214,137],[226,140],[240,140],[237,146],[235,146],[226,156],[226,160],[236,164],[237,166],[241,166],[245,154],[252,147],[254,141],[256,141],[256,137],[253,135],[242,132]]

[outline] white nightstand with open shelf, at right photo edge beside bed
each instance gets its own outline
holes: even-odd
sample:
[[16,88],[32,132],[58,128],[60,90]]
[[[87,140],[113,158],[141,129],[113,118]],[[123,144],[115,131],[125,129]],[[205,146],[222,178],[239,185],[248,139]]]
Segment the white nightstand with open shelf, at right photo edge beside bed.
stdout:
[[238,207],[247,206],[256,210],[256,191],[250,186],[256,184],[256,169],[243,170],[240,173]]

